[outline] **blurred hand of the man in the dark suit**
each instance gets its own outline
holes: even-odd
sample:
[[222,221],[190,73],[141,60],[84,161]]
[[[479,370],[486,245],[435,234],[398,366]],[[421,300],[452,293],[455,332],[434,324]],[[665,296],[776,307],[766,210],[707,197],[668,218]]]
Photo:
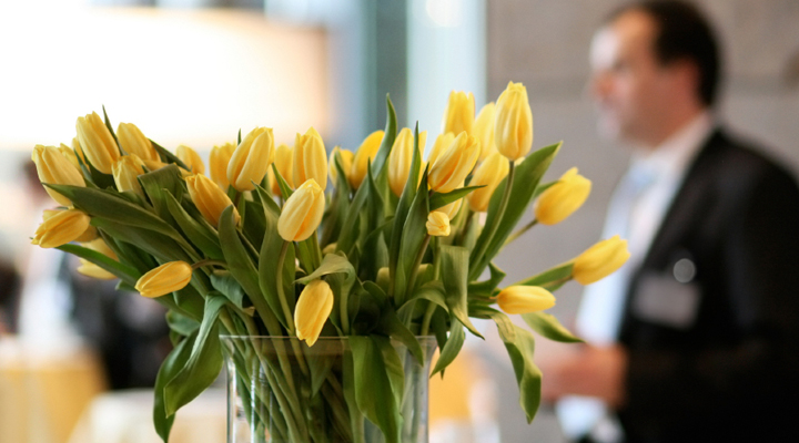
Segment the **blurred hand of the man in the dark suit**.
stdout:
[[563,395],[577,394],[600,398],[611,408],[620,406],[625,401],[627,373],[624,348],[572,347],[569,351],[548,354],[539,361],[544,400],[552,402]]

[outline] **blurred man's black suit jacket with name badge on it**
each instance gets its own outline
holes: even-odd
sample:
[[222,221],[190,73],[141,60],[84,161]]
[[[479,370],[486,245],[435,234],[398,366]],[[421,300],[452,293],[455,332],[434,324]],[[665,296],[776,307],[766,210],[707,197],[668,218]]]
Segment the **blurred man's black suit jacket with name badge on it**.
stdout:
[[799,188],[715,132],[631,278],[628,442],[799,435]]

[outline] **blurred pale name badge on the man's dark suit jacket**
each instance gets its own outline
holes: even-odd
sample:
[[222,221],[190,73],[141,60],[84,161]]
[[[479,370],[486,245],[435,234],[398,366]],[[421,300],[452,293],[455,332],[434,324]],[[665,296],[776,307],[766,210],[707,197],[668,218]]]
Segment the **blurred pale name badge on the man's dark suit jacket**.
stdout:
[[633,313],[653,323],[688,329],[696,320],[701,291],[690,281],[692,276],[689,279],[682,277],[677,267],[674,275],[653,272],[641,276],[631,300]]

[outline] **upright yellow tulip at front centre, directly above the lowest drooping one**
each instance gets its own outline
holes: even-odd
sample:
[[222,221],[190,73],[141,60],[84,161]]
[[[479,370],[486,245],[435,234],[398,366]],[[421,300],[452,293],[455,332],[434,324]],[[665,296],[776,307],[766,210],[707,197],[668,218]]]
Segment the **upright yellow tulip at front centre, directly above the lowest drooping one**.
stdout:
[[277,233],[286,241],[302,241],[311,237],[324,214],[324,190],[310,178],[283,205],[277,218]]

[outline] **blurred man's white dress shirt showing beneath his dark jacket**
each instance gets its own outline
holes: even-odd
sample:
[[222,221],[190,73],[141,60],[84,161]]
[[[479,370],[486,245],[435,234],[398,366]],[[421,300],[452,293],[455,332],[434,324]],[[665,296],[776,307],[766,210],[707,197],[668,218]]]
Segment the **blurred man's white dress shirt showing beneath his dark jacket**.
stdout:
[[[715,122],[705,112],[653,151],[636,152],[608,206],[603,238],[626,238],[630,258],[616,272],[588,286],[577,313],[577,333],[586,342],[616,342],[633,270],[640,266],[663,224],[688,167],[710,136]],[[591,433],[599,441],[616,441],[617,425],[599,399],[568,396],[557,404],[564,433],[576,439]],[[598,433],[598,435],[597,435]]]

